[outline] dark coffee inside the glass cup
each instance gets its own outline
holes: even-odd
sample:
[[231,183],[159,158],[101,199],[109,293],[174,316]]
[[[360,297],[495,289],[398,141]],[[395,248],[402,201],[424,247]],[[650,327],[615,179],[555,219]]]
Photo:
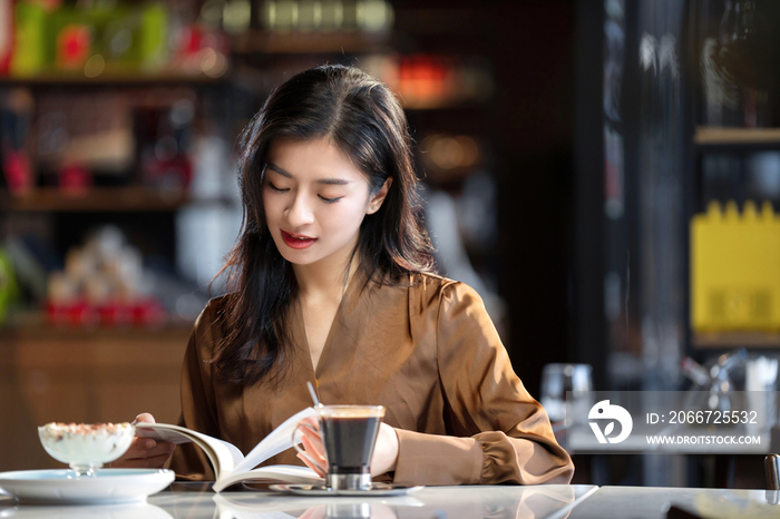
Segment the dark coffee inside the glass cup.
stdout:
[[322,417],[329,472],[368,473],[381,417]]

